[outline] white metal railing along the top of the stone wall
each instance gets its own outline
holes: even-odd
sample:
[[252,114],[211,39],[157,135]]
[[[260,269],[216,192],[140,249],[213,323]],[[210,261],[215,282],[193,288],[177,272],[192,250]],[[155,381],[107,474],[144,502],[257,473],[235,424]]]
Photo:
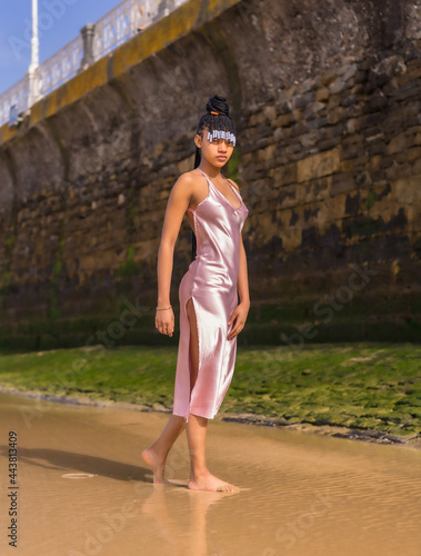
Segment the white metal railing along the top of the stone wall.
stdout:
[[[121,43],[166,17],[186,0],[123,0],[81,34],[38,66],[33,89],[36,101],[83,71]],[[0,95],[0,126],[12,125],[27,112],[29,75]]]

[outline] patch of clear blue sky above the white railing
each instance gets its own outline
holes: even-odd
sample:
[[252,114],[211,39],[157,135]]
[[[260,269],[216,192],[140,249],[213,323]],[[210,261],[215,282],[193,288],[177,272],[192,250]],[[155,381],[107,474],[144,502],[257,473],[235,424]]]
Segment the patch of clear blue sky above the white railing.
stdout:
[[[117,0],[38,0],[40,63],[94,23]],[[1,0],[0,95],[18,82],[31,61],[32,0]]]

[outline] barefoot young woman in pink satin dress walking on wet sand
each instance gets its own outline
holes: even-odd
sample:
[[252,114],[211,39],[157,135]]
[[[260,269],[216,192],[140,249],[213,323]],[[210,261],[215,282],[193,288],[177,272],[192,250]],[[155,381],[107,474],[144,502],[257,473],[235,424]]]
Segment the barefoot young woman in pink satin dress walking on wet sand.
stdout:
[[209,99],[194,142],[196,168],[182,173],[171,190],[158,252],[156,327],[172,336],[173,250],[186,214],[193,231],[193,260],[179,288],[174,404],[161,436],[142,457],[153,469],[153,481],[164,483],[168,453],[186,427],[191,464],[188,487],[233,492],[237,487],[208,470],[204,450],[208,419],[214,418],[231,383],[237,336],[250,308],[241,236],[249,210],[237,183],[221,173],[235,145],[234,125],[223,97]]

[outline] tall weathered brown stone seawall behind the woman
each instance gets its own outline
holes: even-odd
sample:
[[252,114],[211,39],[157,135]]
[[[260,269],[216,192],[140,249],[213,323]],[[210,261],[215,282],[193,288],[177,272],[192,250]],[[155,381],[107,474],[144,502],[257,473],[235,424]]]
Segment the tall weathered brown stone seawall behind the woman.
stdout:
[[250,210],[239,342],[419,340],[420,43],[415,0],[190,0],[3,126],[1,345],[177,344],[154,330],[157,254],[214,93]]

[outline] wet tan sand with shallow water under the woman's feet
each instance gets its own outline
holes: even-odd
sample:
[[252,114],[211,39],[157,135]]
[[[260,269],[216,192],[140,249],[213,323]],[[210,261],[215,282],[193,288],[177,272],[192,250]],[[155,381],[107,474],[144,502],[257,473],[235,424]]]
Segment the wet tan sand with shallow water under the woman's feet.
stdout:
[[241,492],[191,492],[184,434],[168,461],[172,486],[153,486],[141,459],[167,419],[0,394],[0,554],[421,556],[420,451],[211,420],[208,466]]

